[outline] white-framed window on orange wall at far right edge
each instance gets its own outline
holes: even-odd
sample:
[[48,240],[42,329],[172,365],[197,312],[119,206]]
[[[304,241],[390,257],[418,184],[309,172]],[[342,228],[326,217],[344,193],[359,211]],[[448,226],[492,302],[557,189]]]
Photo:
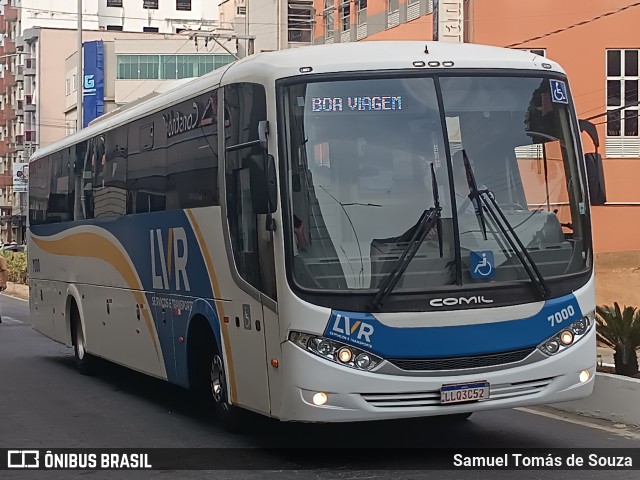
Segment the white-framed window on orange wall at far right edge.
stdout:
[[608,157],[640,155],[638,52],[638,49],[607,50],[606,153]]

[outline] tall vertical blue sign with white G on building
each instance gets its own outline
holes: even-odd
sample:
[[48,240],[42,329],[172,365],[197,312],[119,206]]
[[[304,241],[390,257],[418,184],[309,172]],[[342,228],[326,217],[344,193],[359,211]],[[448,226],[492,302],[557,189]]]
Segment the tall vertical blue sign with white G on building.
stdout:
[[101,40],[83,44],[82,126],[104,113],[104,44]]

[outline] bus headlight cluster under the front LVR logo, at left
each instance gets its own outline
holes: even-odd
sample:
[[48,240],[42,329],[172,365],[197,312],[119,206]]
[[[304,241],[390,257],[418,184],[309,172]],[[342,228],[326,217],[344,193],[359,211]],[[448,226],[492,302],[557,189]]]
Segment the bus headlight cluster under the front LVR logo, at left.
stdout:
[[370,352],[346,345],[342,342],[329,340],[320,335],[310,333],[291,332],[289,340],[300,348],[308,350],[319,357],[326,358],[332,362],[355,368],[356,370],[369,371],[382,362],[382,358]]

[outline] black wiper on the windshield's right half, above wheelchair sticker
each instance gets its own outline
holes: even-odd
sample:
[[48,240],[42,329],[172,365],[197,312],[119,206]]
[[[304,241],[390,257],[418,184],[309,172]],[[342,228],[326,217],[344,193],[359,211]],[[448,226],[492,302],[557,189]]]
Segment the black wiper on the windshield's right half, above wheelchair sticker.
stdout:
[[467,152],[464,150],[462,150],[462,158],[464,160],[464,169],[467,174],[467,182],[469,184],[469,198],[475,202],[476,215],[478,216],[478,222],[482,228],[484,239],[487,239],[487,227],[484,220],[483,208],[487,210],[491,219],[500,229],[505,240],[515,252],[518,260],[520,260],[520,263],[527,272],[527,275],[529,275],[531,283],[534,285],[540,298],[548,298],[551,293],[549,284],[542,273],[540,273],[538,266],[533,261],[533,258],[531,258],[529,251],[523,245],[522,240],[518,237],[513,226],[507,220],[507,217],[496,201],[493,192],[487,188],[483,188],[482,190],[478,189],[476,178],[473,170],[471,169],[471,163],[469,162],[469,157],[467,157]]

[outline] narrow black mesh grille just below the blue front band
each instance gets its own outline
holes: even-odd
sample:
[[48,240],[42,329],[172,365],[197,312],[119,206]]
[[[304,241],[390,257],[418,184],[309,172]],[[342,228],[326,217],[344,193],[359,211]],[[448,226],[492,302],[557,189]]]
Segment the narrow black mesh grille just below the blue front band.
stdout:
[[402,370],[463,370],[467,368],[493,367],[506,363],[515,363],[527,358],[535,347],[511,352],[477,355],[474,357],[451,358],[392,358],[389,362]]

